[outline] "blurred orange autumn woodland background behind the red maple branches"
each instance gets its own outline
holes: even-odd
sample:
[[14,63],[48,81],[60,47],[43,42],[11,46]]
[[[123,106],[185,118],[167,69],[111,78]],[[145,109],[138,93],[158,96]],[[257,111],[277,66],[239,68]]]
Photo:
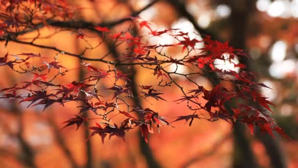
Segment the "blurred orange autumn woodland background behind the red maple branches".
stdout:
[[[76,11],[77,18],[93,23],[122,19],[151,2],[69,1],[81,9]],[[19,106],[14,102],[8,104],[7,100],[0,99],[1,168],[298,168],[298,0],[157,0],[139,15],[157,30],[181,28],[189,32],[190,37],[191,34],[195,37],[196,32],[208,34],[221,42],[229,41],[234,48],[244,49],[250,58],[235,61],[247,64],[247,69],[255,72],[260,83],[272,88],[263,88],[262,93],[275,104],[271,108],[276,122],[293,140],[284,140],[278,135],[273,139],[260,134],[258,130],[251,136],[243,125],[231,130],[231,125],[225,121],[195,120],[191,127],[181,121],[174,123],[175,128],[162,127],[160,134],[150,134],[149,147],[140,142],[137,130],[128,132],[125,142],[112,138],[102,144],[99,136],[86,142],[86,127],[77,131],[74,126],[60,130],[64,126],[61,122],[77,114],[75,107],[79,104],[51,106],[41,112],[43,107],[26,109],[25,105]],[[125,22],[112,30],[120,32],[130,24]],[[50,34],[53,30],[43,28],[41,32]],[[144,32],[137,29],[137,33]],[[23,38],[32,36],[34,32]],[[91,43],[97,40],[99,38],[90,37]],[[152,44],[170,44],[173,43],[171,40],[163,36],[149,39]],[[77,40],[75,36],[70,37],[69,31],[59,32],[38,42],[70,52],[78,52],[86,46],[84,41]],[[5,48],[4,43],[0,44],[1,56],[8,51],[41,53],[49,57],[57,54],[13,42]],[[100,46],[88,54],[106,53],[107,50],[105,46]],[[124,49],[117,50],[121,53]],[[178,57],[181,49],[173,48],[171,51],[169,48],[167,52]],[[59,57],[59,62],[68,68],[78,67],[81,63],[70,56]],[[101,66],[100,63],[93,65]],[[233,68],[228,63],[220,66]],[[181,72],[186,70],[179,67]],[[151,84],[156,77],[145,76],[144,71],[136,69],[136,81]],[[58,78],[58,81],[72,82],[82,74],[72,71],[64,78]],[[0,75],[1,88],[33,79],[32,74],[19,75],[7,67],[1,67]],[[180,82],[187,84],[183,79]],[[210,85],[203,77],[199,77],[197,82],[206,87]],[[101,85],[107,88],[104,82]],[[155,102],[152,106],[146,101],[141,103],[160,112],[170,121],[174,120],[174,116],[191,113],[183,104],[172,102],[180,96],[178,89],[166,87],[163,92],[163,98],[168,102]]]

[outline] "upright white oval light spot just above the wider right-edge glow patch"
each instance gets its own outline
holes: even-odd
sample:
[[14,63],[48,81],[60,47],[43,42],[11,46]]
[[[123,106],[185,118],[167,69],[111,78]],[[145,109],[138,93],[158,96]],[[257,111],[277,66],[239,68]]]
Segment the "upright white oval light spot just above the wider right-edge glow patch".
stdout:
[[271,59],[280,62],[286,57],[287,44],[284,41],[276,41],[271,49]]

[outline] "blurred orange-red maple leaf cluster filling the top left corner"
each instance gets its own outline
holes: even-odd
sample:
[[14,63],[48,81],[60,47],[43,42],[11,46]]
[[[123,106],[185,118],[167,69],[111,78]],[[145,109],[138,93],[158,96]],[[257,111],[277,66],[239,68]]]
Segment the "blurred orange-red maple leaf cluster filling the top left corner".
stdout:
[[5,13],[0,12],[0,35],[6,40],[30,32],[40,23],[47,24],[49,18],[58,21],[74,17],[67,0],[1,0],[0,4],[5,8]]

